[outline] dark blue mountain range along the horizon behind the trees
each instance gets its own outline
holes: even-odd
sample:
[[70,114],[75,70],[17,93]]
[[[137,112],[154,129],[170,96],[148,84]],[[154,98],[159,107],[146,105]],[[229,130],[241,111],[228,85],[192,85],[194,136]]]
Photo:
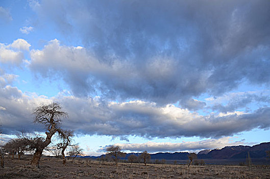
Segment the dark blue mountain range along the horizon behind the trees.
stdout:
[[[261,143],[254,146],[226,146],[222,149],[207,149],[200,151],[197,156],[198,159],[246,159],[248,152],[250,152],[250,156],[253,159],[263,158],[265,159],[266,150],[270,150],[270,142]],[[128,160],[129,155],[135,154],[139,155],[140,153],[127,153],[125,158],[121,158],[122,160]],[[188,152],[159,152],[151,154],[152,160],[188,160]],[[104,155],[101,155],[104,156]],[[91,158],[97,159],[101,158],[101,156],[83,156],[83,158]]]

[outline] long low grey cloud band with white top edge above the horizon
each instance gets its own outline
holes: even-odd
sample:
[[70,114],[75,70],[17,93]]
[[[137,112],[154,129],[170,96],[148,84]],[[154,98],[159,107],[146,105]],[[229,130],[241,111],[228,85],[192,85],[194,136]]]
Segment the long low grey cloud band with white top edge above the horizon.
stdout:
[[[16,94],[16,95],[15,95]],[[56,96],[48,99],[35,94],[23,94],[16,87],[0,88],[0,120],[3,132],[33,129],[43,131],[33,124],[32,109],[43,103],[60,102],[69,118],[63,128],[88,135],[107,135],[128,140],[127,136],[145,138],[178,138],[198,136],[219,138],[232,136],[255,128],[268,129],[269,107],[260,107],[251,113],[199,115],[174,105],[159,106],[144,101],[108,102],[102,98]]]

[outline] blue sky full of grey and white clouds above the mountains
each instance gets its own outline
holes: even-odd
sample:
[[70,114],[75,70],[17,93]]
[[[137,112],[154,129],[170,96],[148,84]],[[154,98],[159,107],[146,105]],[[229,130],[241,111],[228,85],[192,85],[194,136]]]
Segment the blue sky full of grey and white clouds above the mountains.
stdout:
[[59,102],[87,155],[269,142],[270,1],[0,1],[2,141]]

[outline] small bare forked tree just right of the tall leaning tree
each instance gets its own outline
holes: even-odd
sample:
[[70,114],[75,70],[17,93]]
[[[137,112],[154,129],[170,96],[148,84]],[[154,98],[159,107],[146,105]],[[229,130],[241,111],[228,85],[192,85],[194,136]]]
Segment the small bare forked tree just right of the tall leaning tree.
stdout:
[[70,146],[71,138],[74,135],[72,130],[59,130],[58,132],[59,138],[61,139],[61,143],[57,144],[57,149],[62,149],[61,154],[63,158],[63,165],[65,165],[66,164],[65,149],[67,148],[67,146]]

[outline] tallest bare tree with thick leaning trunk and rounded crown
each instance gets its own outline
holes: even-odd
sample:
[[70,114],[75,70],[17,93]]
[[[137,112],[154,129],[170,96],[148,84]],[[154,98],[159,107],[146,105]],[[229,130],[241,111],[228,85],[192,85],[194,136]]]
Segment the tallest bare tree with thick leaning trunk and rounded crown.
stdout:
[[33,114],[35,115],[34,122],[44,124],[47,130],[45,132],[46,139],[39,141],[31,161],[31,165],[39,168],[39,161],[43,150],[52,142],[52,137],[60,129],[61,119],[68,117],[68,115],[62,111],[60,104],[55,102],[34,108]]

